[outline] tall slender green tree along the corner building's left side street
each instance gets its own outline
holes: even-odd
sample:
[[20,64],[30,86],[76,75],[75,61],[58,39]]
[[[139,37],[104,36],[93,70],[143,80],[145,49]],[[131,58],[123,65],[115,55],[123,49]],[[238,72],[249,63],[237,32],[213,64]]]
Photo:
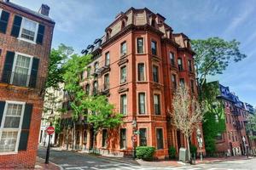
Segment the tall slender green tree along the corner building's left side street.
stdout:
[[84,81],[83,72],[86,65],[90,62],[90,55],[72,54],[64,65],[65,73],[63,74],[64,89],[67,92],[68,100],[71,103],[73,118],[73,149],[76,143],[76,124],[79,118],[84,116],[87,111],[86,101],[88,95],[85,94],[81,82]]

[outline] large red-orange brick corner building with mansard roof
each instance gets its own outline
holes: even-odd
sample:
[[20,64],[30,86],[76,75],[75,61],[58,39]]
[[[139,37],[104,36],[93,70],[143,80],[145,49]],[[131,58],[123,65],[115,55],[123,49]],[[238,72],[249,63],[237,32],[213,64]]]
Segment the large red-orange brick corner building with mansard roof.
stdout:
[[[96,137],[102,154],[131,155],[135,146],[156,148],[155,156],[168,156],[168,148],[185,147],[183,134],[171,125],[172,95],[179,84],[196,95],[195,69],[189,37],[173,33],[166,18],[148,8],[130,8],[116,16],[105,35],[83,50],[93,59],[84,77],[89,94],[106,94],[116,111],[124,115],[118,129],[103,129]],[[136,122],[136,123],[135,123]],[[66,131],[63,132],[65,135]],[[92,129],[81,126],[79,148],[90,150]],[[66,137],[63,137],[66,139]],[[192,143],[197,145],[195,136]],[[62,146],[65,141],[62,141]]]

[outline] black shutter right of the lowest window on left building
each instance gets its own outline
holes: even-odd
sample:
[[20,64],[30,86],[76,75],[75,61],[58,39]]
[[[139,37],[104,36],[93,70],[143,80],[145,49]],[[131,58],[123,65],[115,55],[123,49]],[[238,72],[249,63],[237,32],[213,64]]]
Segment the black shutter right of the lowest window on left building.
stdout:
[[29,136],[29,127],[31,122],[32,116],[32,104],[25,105],[25,111],[23,116],[23,122],[21,126],[21,133],[20,133],[20,143],[19,143],[19,151],[26,150],[28,136]]

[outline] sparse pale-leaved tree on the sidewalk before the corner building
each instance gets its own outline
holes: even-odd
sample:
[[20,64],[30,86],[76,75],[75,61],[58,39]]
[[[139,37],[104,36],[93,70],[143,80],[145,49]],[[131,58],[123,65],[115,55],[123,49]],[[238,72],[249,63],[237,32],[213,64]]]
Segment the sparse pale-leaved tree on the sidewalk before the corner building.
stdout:
[[187,87],[178,87],[173,97],[172,109],[172,123],[184,134],[189,150],[189,138],[203,119],[201,105],[194,96],[189,94]]

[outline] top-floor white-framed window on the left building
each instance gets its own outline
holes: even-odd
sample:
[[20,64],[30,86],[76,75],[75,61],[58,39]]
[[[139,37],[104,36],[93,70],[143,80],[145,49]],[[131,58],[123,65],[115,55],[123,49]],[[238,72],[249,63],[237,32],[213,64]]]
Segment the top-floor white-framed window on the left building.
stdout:
[[38,23],[32,20],[22,19],[20,37],[35,42],[38,31]]

